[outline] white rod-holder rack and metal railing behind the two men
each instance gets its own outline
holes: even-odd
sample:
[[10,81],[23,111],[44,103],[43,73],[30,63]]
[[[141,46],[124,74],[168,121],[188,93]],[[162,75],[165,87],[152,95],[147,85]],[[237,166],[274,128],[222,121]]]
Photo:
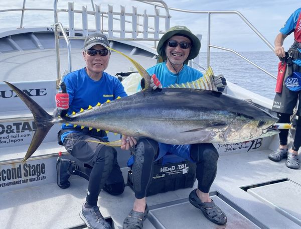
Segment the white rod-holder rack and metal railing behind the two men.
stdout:
[[[147,1],[149,2],[149,1]],[[161,0],[155,0],[153,2],[164,3]],[[54,26],[55,26],[55,48],[56,48],[56,65],[57,65],[57,85],[61,80],[61,70],[60,70],[60,48],[59,39],[64,38],[67,43],[68,49],[68,69],[69,72],[72,71],[72,60],[71,60],[71,45],[69,39],[85,39],[89,33],[106,33],[109,40],[143,40],[143,41],[159,41],[160,34],[164,34],[167,29],[170,28],[170,14],[167,5],[165,6],[166,15],[160,15],[160,10],[155,7],[155,14],[146,14],[144,10],[143,14],[137,14],[137,8],[132,7],[131,13],[125,12],[125,7],[120,6],[120,12],[114,12],[113,7],[108,5],[108,11],[100,11],[100,5],[96,5],[91,0],[93,11],[88,11],[86,7],[82,7],[82,10],[74,10],[74,4],[68,3],[68,10],[58,10],[57,9],[58,0],[53,2],[53,13],[54,13]],[[165,4],[165,3],[164,3]],[[58,14],[61,12],[68,12],[68,35],[64,29],[62,23],[59,22]],[[74,14],[78,13],[82,16],[82,27],[78,30],[76,35],[76,29],[74,25]],[[88,29],[88,15],[93,15],[95,19],[95,29]],[[118,17],[114,17],[118,16]],[[125,20],[125,16],[130,17],[131,21]],[[142,17],[143,24],[139,23],[139,18]],[[149,18],[154,19],[154,27],[148,25]],[[160,19],[165,19],[165,30],[160,29]],[[104,21],[106,21],[107,29],[104,29]],[[120,29],[113,29],[113,21],[119,22]],[[102,22],[102,23],[101,23]],[[131,25],[131,30],[125,29],[125,23]],[[139,30],[142,27],[142,30]],[[60,36],[60,32],[63,36]],[[114,36],[114,33],[119,34],[119,36]],[[126,36],[130,34],[130,37]],[[142,37],[138,38],[141,34]],[[149,35],[154,37],[149,37]],[[155,43],[156,45],[156,43]]]

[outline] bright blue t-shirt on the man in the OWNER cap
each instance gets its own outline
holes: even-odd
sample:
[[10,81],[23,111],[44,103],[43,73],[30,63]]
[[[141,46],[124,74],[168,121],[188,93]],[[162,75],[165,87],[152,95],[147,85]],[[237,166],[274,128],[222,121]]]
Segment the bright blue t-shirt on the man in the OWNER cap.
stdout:
[[[121,82],[106,72],[102,73],[100,80],[95,81],[88,76],[85,68],[82,68],[67,74],[63,82],[65,82],[67,93],[69,94],[68,115],[71,115],[73,111],[80,111],[81,108],[87,109],[89,105],[95,106],[98,102],[104,103],[108,99],[113,100],[118,96],[127,96]],[[70,128],[70,126],[62,125],[62,129],[67,128]],[[78,128],[80,129],[80,127]],[[62,134],[62,142],[71,132],[74,131]]]

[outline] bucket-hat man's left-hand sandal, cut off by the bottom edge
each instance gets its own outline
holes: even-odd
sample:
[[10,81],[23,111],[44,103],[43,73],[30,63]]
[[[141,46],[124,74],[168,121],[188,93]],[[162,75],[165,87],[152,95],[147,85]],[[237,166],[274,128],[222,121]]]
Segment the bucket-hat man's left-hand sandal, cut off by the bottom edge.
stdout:
[[144,212],[138,212],[131,209],[128,216],[123,221],[123,229],[142,229],[143,222],[147,217],[148,207],[146,204]]

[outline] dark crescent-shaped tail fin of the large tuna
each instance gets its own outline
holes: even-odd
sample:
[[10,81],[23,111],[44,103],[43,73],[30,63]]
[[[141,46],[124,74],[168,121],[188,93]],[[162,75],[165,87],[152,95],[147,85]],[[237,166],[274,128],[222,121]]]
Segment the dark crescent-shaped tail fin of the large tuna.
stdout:
[[17,95],[25,102],[28,108],[34,115],[34,120],[37,126],[35,131],[34,137],[30,143],[30,146],[27,150],[27,153],[22,160],[22,162],[26,161],[33,153],[38,149],[41,145],[42,141],[46,137],[47,133],[54,125],[53,117],[49,115],[38,103],[36,103],[31,97],[25,94],[22,90],[18,87],[14,86],[13,84],[4,81],[8,84],[16,93]]

